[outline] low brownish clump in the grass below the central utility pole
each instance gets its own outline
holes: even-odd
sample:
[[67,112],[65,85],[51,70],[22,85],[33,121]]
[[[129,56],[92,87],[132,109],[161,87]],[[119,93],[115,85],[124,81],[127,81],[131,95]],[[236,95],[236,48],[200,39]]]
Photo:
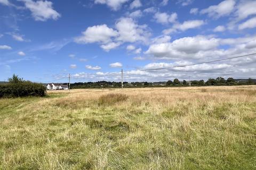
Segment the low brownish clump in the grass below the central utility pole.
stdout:
[[128,98],[127,95],[124,94],[107,94],[107,95],[102,95],[99,98],[99,103],[100,104],[115,104],[120,101],[125,101]]

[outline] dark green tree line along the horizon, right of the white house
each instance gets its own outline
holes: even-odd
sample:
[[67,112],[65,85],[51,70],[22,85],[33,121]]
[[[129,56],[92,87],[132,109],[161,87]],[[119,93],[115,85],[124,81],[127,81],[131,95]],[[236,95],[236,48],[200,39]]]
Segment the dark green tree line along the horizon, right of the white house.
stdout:
[[[123,82],[125,88],[132,88],[132,87],[163,87],[163,86],[239,86],[239,85],[253,85],[256,84],[255,79],[234,79],[228,78],[227,80],[218,77],[216,79],[209,78],[207,81],[204,80],[193,80],[187,81],[183,80],[180,81],[179,79],[174,79],[164,81],[164,82]],[[121,82],[115,81],[97,81],[97,82],[76,82],[71,83],[71,89],[84,89],[84,88],[121,88]]]

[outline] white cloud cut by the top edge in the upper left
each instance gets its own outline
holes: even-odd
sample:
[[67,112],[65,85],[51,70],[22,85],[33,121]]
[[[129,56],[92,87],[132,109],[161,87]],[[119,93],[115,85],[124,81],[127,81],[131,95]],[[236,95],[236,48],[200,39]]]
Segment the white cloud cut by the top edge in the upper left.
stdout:
[[48,19],[58,20],[60,14],[55,11],[52,7],[52,2],[50,1],[32,1],[32,0],[20,0],[25,3],[26,8],[28,8],[33,18],[36,21],[46,21]]

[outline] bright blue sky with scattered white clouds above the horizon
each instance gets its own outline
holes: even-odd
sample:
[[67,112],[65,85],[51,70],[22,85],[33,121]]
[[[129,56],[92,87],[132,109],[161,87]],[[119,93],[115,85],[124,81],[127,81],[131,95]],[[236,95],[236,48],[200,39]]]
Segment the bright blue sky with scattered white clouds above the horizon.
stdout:
[[256,78],[256,55],[140,71],[256,53],[255,9],[254,0],[0,0],[0,81],[121,81],[121,69],[127,82]]

